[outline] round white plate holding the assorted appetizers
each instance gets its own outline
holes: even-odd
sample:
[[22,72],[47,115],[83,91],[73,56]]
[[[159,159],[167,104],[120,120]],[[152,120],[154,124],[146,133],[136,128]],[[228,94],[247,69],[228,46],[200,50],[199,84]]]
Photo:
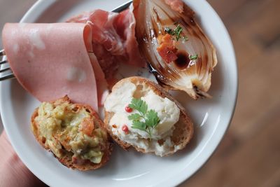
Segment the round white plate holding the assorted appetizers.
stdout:
[[[112,10],[126,0],[38,1],[22,22],[61,22],[94,8]],[[218,52],[209,91],[213,99],[194,101],[183,92],[174,96],[195,122],[195,136],[186,149],[167,158],[123,151],[115,146],[109,163],[96,171],[78,172],[59,162],[35,141],[29,128],[39,102],[16,80],[1,83],[1,116],[15,151],[39,179],[50,186],[175,186],[208,160],[228,129],[237,99],[237,64],[230,36],[207,1],[187,1]]]

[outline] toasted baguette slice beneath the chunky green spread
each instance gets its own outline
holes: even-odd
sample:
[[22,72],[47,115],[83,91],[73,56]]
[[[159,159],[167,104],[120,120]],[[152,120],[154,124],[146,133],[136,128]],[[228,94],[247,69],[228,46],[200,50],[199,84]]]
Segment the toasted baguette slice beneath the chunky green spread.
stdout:
[[[65,103],[72,104],[69,97],[67,96],[62,97],[61,99],[57,99],[50,103],[54,104],[55,106],[60,106],[61,104],[65,104]],[[40,130],[41,124],[36,122],[37,121],[36,117],[38,116],[38,109],[39,108],[35,109],[33,115],[31,116],[31,130],[38,143],[41,144],[41,146],[43,146],[43,148],[45,148],[46,150],[52,152],[55,158],[57,158],[59,162],[62,163],[62,165],[65,165],[66,167],[69,167],[71,169],[78,169],[81,171],[85,171],[85,170],[97,169],[99,167],[102,167],[109,160],[113,148],[113,144],[112,144],[113,142],[111,141],[111,137],[109,137],[109,134],[107,134],[106,132],[103,121],[100,120],[98,114],[92,109],[92,107],[84,104],[73,104],[72,110],[79,111],[81,109],[85,109],[85,111],[89,113],[90,116],[92,117],[91,119],[93,120],[94,129],[100,128],[105,132],[106,142],[105,145],[103,145],[104,147],[102,148],[104,155],[102,156],[102,160],[99,163],[94,163],[86,159],[73,159],[72,158],[73,152],[69,150],[71,148],[65,148],[67,145],[67,141],[69,141],[69,139],[68,140],[66,139],[64,142],[59,141],[59,135],[52,133],[55,142],[59,144],[59,146],[61,146],[61,149],[59,149],[60,156],[57,156],[57,153],[54,153],[50,145],[46,143],[48,139],[46,139],[46,137],[44,137],[41,133]],[[80,126],[79,126],[79,130],[80,130]]]

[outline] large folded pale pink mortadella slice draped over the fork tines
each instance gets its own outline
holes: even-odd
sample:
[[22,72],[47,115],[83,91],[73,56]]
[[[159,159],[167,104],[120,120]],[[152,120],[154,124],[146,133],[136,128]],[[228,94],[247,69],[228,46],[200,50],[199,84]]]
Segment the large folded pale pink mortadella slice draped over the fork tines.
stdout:
[[41,102],[64,95],[98,111],[97,83],[87,53],[92,30],[82,23],[6,24],[3,48],[20,84]]

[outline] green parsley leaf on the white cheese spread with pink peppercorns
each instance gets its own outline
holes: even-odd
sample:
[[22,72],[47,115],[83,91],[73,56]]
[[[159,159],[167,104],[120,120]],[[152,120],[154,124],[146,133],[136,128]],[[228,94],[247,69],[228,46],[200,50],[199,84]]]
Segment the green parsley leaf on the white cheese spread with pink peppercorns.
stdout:
[[158,113],[155,110],[148,110],[148,105],[142,99],[133,98],[128,106],[138,111],[128,116],[128,119],[132,120],[132,128],[147,132],[151,139],[153,129],[160,123]]

